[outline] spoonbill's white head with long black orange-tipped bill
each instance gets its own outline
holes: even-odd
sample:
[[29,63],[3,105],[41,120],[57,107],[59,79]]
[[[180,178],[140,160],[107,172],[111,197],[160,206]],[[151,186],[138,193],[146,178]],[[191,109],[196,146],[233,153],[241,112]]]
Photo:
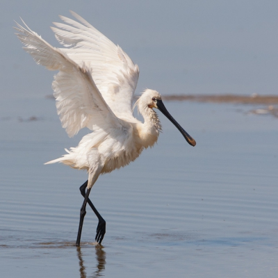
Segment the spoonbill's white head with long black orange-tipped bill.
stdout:
[[176,120],[174,120],[172,115],[170,115],[170,113],[167,111],[166,107],[163,104],[163,101],[161,100],[161,95],[159,94],[159,92],[150,89],[145,90],[138,101],[136,101],[136,104],[134,106],[136,105],[138,105],[139,111],[157,108],[174,124],[174,126],[177,127],[177,129],[179,129],[188,144],[193,147],[196,145],[195,140],[178,124]]

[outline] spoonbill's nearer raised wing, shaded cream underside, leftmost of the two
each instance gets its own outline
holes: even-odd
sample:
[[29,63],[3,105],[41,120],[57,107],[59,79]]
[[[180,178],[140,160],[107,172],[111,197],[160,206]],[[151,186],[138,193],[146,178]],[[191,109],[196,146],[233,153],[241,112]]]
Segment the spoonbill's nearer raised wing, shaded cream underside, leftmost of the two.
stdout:
[[76,64],[63,51],[52,47],[31,31],[26,24],[26,28],[19,24],[17,26],[17,37],[35,62],[48,70],[59,70],[53,82],[54,97],[60,121],[70,137],[85,126],[91,130],[122,128],[124,122],[115,116],[104,101],[88,65]]

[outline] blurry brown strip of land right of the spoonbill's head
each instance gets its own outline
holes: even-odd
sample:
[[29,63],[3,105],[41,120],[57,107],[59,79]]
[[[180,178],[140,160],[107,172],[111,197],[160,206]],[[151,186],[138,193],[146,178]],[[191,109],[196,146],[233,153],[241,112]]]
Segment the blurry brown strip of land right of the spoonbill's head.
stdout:
[[167,101],[197,101],[232,104],[278,104],[276,95],[168,95],[163,96]]

